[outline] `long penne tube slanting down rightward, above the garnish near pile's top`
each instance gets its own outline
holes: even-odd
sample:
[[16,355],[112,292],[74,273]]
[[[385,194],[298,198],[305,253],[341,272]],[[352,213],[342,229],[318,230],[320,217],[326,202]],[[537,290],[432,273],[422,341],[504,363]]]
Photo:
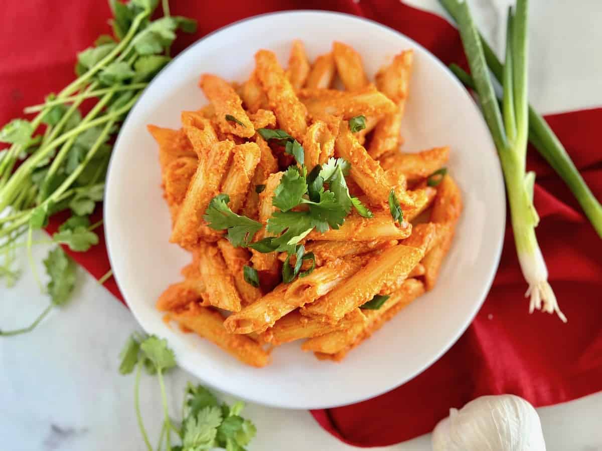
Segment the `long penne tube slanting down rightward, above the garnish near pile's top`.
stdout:
[[302,141],[307,129],[307,110],[297,99],[276,55],[260,50],[255,54],[255,64],[257,76],[267,93],[270,106],[273,106],[279,126],[296,140]]

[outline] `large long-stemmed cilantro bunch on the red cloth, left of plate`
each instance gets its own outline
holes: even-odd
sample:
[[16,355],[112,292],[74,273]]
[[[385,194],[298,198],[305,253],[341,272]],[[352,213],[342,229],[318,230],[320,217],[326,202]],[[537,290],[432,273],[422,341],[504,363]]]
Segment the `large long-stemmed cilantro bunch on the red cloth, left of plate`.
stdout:
[[[90,226],[87,215],[104,195],[111,140],[143,89],[170,61],[175,32],[196,29],[194,20],[170,16],[167,1],[164,16],[156,20],[151,16],[158,0],[110,0],[110,6],[113,37],[101,35],[79,52],[78,78],[60,93],[49,94],[45,103],[25,108],[36,113],[31,120],[14,119],[0,130],[0,141],[11,144],[0,152],[0,277],[8,286],[19,275],[14,269],[16,249],[25,246],[42,287],[31,257],[32,233],[48,225],[55,213],[70,210],[73,216],[51,243],[69,245],[72,251],[87,251],[98,243],[93,229],[100,224]],[[96,103],[84,112],[84,101],[92,99]],[[51,250],[48,259],[56,252]],[[43,291],[52,295],[49,289]],[[32,327],[46,313],[48,309]],[[20,331],[27,330],[31,328]]]

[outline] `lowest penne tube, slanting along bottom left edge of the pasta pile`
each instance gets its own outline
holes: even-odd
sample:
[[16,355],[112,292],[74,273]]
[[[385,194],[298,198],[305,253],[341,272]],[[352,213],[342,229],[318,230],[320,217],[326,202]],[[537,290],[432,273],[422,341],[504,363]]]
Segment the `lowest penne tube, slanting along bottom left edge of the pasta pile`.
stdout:
[[262,367],[270,361],[270,354],[255,340],[244,335],[229,334],[223,326],[222,315],[216,310],[194,307],[181,313],[171,313],[169,316],[247,365]]

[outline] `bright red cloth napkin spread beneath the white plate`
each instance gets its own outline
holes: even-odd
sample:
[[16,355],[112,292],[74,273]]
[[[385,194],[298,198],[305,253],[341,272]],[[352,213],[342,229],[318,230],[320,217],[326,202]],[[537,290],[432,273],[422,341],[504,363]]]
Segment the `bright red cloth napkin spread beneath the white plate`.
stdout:
[[[465,65],[455,28],[397,0],[211,4],[172,0],[171,4],[173,14],[199,20],[197,34],[179,38],[175,51],[244,17],[321,8],[376,20],[414,38],[445,64]],[[0,10],[0,123],[66,85],[73,77],[75,53],[110,31],[109,15],[103,0],[80,0],[68,6],[45,0],[7,2]],[[602,109],[551,115],[547,120],[594,194],[602,197]],[[602,390],[602,240],[566,186],[533,150],[529,168],[538,174],[539,244],[568,324],[548,314],[527,314],[526,284],[508,228],[494,285],[461,339],[421,375],[389,393],[346,407],[312,411],[327,431],[356,446],[382,446],[429,432],[450,407],[461,407],[483,394],[514,393],[541,406]],[[95,215],[100,218],[102,212]],[[49,231],[63,219],[52,221]],[[96,278],[110,268],[100,235],[100,244],[88,253],[72,253]],[[105,286],[123,301],[113,279]]]

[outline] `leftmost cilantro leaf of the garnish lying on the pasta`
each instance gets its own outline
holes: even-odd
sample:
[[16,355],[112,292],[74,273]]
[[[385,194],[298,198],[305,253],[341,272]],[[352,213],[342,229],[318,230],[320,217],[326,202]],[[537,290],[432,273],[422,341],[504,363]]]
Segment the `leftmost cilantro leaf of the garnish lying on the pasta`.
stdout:
[[237,215],[230,207],[228,194],[218,194],[211,199],[203,219],[214,230],[228,230],[228,239],[234,247],[247,246],[255,233],[263,227],[261,222]]

